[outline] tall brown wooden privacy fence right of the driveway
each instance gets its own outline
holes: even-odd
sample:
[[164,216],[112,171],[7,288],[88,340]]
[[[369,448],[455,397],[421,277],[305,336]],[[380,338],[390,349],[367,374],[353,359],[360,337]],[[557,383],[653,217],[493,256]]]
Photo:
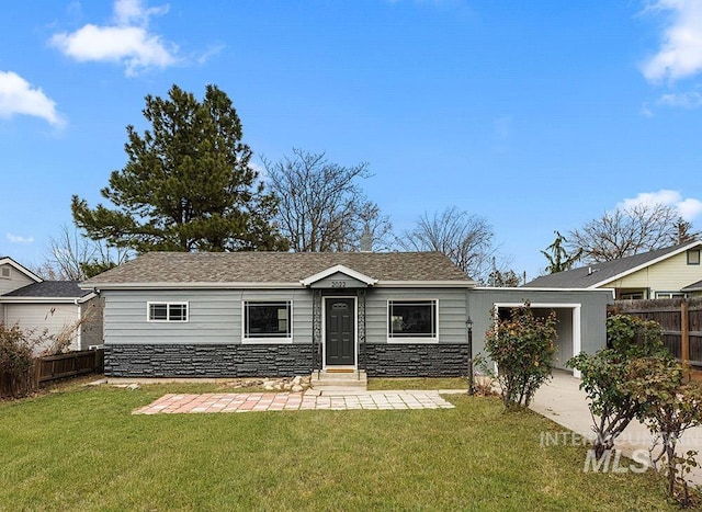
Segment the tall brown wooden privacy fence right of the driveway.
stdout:
[[656,320],[670,353],[682,362],[702,366],[702,298],[616,300],[610,312]]

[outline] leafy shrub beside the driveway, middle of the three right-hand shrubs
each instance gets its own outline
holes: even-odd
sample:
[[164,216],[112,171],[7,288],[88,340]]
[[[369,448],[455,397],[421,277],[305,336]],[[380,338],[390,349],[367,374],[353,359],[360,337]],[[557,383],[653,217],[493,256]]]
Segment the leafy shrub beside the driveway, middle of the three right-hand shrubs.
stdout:
[[[636,339],[642,344],[636,343]],[[585,352],[568,361],[567,366],[580,372],[580,389],[590,401],[595,454],[598,459],[614,447],[616,437],[641,410],[639,402],[623,388],[627,365],[635,357],[665,355],[660,325],[626,315],[607,319],[607,349],[595,355]]]

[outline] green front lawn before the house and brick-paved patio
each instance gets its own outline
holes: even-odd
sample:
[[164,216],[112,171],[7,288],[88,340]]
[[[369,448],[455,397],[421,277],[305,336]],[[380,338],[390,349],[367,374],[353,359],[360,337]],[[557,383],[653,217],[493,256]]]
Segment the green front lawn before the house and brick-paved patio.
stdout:
[[67,387],[0,403],[1,510],[676,510],[650,471],[584,473],[582,446],[498,399],[455,409],[132,416],[166,392]]

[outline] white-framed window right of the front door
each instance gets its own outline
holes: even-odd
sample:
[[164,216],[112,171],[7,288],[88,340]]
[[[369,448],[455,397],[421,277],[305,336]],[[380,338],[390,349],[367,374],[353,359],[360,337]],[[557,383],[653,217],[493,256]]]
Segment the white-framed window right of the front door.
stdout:
[[389,339],[437,338],[437,300],[389,300],[387,311]]

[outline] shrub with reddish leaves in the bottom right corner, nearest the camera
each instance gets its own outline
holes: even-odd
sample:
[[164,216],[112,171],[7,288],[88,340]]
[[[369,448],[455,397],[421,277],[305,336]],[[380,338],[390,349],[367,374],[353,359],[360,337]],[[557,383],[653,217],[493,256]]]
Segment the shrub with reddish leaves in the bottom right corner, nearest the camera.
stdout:
[[[672,357],[638,357],[627,365],[627,382],[623,388],[639,406],[638,419],[656,436],[650,448],[652,462],[658,470],[663,462],[668,479],[668,494],[680,504],[693,504],[684,475],[698,466],[697,451],[684,456],[676,454],[682,434],[702,424],[702,385],[684,382],[684,371]],[[656,446],[660,453],[653,457]]]

